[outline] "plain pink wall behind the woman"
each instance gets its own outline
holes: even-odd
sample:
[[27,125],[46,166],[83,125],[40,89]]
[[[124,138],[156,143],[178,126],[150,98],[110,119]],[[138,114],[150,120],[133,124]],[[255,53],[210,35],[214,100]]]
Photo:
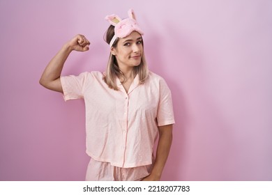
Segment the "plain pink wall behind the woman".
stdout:
[[0,0],[0,180],[84,180],[84,102],[38,84],[77,33],[63,75],[103,71],[105,15],[134,8],[149,68],[172,89],[163,180],[272,180],[272,1]]

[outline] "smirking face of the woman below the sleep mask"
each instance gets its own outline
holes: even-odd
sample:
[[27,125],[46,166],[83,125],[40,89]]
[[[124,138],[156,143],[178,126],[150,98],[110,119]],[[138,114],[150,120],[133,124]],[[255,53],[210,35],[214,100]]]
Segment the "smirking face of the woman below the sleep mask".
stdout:
[[112,47],[111,52],[116,56],[120,70],[139,65],[143,52],[142,36],[133,31],[126,38],[119,38],[116,48]]

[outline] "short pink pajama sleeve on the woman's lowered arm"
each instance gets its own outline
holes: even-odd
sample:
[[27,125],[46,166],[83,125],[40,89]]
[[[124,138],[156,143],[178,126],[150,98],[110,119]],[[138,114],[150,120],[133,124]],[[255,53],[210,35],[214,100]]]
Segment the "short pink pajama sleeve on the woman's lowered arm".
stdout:
[[172,94],[164,79],[160,80],[160,100],[157,113],[158,126],[174,124]]

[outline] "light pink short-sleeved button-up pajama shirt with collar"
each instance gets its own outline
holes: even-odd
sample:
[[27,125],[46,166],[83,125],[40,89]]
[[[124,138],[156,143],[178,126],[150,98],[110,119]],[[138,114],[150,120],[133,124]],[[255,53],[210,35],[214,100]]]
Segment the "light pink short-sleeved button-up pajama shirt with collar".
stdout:
[[118,78],[116,83],[119,91],[109,88],[96,71],[61,77],[65,100],[84,99],[86,153],[91,159],[120,168],[150,165],[158,126],[174,123],[171,91],[153,72],[144,84],[137,75],[128,93]]

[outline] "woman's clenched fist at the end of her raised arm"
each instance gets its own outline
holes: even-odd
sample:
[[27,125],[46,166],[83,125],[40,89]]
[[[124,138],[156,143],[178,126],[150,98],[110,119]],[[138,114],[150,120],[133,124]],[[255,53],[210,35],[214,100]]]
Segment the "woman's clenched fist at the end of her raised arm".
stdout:
[[85,38],[85,36],[78,34],[72,38],[68,43],[70,50],[75,50],[77,52],[86,52],[89,50],[90,42]]

